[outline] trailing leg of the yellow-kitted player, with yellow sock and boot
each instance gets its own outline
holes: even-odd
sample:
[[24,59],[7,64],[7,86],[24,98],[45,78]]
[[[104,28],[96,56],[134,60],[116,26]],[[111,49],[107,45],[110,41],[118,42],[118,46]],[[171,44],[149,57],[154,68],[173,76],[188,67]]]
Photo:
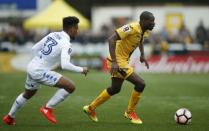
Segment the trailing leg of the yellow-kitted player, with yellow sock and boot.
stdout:
[[112,95],[115,95],[120,92],[121,86],[123,84],[124,79],[112,77],[112,84],[109,88],[103,90],[99,96],[94,99],[90,105],[84,106],[84,112],[93,120],[98,121],[96,117],[95,109],[103,104],[105,101],[110,99]]

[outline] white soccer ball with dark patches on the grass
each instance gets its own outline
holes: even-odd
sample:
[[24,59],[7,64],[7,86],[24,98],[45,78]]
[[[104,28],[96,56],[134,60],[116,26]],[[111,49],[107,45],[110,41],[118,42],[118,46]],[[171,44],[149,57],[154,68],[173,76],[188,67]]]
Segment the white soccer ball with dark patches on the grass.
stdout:
[[186,108],[180,108],[176,111],[174,119],[178,124],[189,124],[192,121],[192,113]]

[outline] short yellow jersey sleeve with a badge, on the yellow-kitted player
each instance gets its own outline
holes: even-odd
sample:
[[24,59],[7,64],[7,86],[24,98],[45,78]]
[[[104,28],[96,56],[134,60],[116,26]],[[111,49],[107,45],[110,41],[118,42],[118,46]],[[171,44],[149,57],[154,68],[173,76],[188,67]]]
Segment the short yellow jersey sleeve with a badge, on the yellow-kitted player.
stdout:
[[133,27],[130,24],[124,25],[118,29],[116,29],[117,34],[121,39],[126,38],[128,35],[134,32]]

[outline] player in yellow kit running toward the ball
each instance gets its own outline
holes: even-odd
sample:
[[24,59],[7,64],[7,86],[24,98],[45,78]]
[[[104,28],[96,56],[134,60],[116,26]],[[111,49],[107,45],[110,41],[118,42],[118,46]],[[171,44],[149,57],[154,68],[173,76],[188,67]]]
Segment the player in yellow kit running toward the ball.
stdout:
[[120,92],[124,80],[134,84],[134,89],[128,103],[128,108],[124,116],[131,120],[134,124],[142,124],[142,120],[135,112],[136,105],[144,90],[144,80],[134,73],[133,68],[128,64],[132,52],[139,47],[141,52],[140,62],[144,62],[149,68],[149,64],[144,57],[143,40],[149,35],[154,28],[155,18],[151,12],[144,11],[140,15],[140,21],[130,23],[118,28],[112,36],[109,37],[108,66],[111,68],[112,83],[109,88],[103,90],[101,94],[93,100],[89,105],[83,107],[84,112],[91,120],[97,122],[95,109],[111,98],[111,96]]

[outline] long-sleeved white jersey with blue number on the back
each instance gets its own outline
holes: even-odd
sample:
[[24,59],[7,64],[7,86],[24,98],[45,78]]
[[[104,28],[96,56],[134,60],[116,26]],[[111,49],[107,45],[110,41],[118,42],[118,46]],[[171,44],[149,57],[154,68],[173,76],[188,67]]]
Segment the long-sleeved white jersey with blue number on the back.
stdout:
[[62,69],[83,72],[82,67],[70,63],[72,45],[70,37],[64,31],[48,34],[32,49],[35,56],[27,67],[27,72],[31,75],[37,75],[38,72],[44,70],[52,70],[57,63],[61,64]]

